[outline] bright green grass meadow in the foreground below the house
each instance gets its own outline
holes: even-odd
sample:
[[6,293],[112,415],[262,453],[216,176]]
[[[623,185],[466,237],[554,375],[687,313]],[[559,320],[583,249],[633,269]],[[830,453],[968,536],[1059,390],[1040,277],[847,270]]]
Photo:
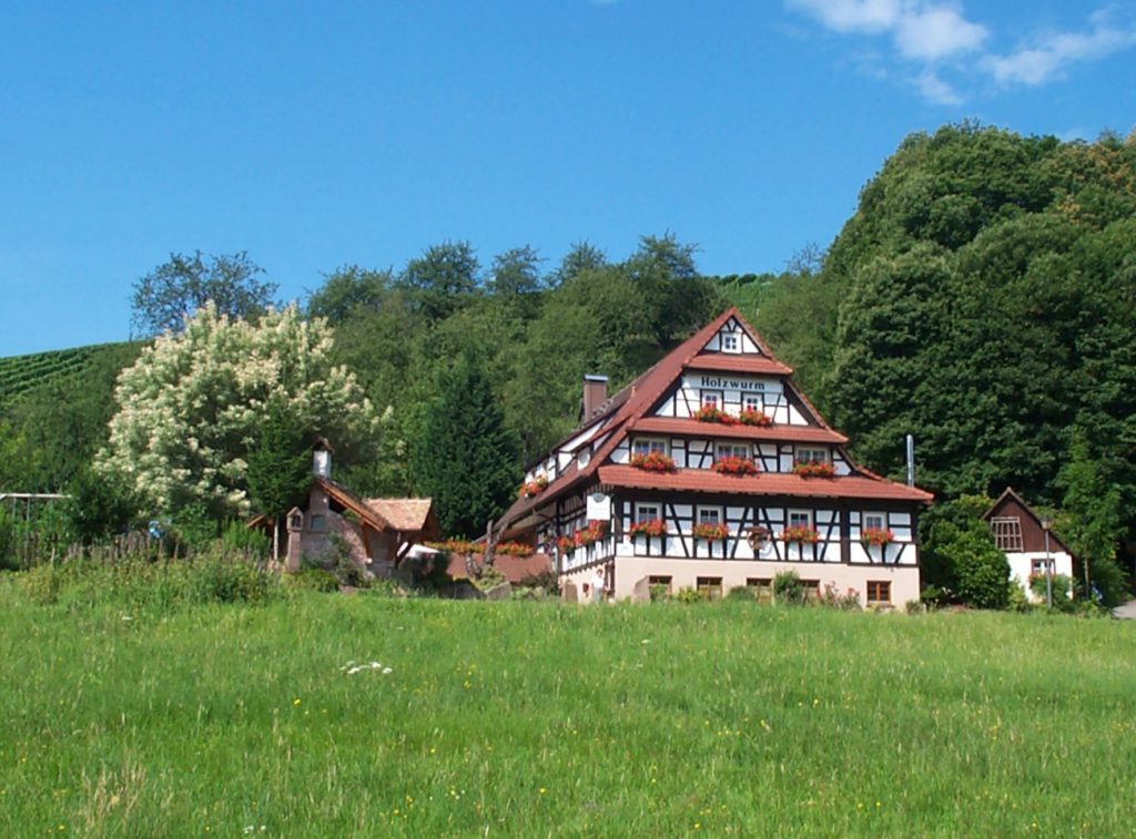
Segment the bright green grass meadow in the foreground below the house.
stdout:
[[312,593],[125,614],[0,579],[0,660],[3,836],[1136,824],[1136,623]]

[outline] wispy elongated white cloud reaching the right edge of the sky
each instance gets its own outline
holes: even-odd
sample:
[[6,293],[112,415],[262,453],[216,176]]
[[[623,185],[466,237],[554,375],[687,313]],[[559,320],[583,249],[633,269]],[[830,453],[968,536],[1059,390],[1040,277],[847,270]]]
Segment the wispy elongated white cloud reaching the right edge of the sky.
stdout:
[[1104,58],[1136,43],[1136,26],[1116,25],[1104,12],[1093,15],[1092,22],[1088,34],[1059,32],[1009,56],[991,56],[986,66],[1002,84],[1036,86],[1062,75],[1070,64]]

